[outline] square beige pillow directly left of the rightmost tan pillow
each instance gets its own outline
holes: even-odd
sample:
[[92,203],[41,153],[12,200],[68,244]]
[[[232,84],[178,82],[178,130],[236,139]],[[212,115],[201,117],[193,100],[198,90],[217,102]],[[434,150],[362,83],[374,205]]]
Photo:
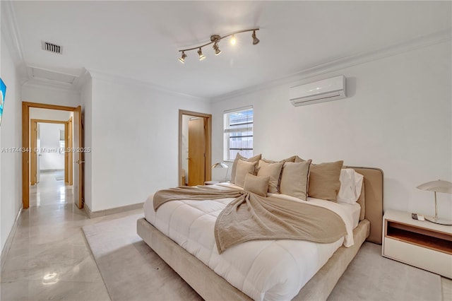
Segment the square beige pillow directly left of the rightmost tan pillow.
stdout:
[[281,172],[280,193],[306,201],[310,166],[311,160],[299,163],[284,163],[283,171]]

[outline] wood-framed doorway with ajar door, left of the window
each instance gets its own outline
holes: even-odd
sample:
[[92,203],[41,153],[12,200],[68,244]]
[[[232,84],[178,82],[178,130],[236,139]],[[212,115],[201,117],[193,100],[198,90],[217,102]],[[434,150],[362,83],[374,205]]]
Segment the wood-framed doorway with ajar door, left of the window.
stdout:
[[179,185],[210,181],[211,127],[211,114],[179,110]]

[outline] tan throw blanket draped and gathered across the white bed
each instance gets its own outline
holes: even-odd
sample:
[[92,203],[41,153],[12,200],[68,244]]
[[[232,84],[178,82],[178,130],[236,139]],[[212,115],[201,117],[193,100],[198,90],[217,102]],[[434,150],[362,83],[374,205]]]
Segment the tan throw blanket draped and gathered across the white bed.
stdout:
[[218,253],[250,240],[335,242],[347,231],[337,213],[309,203],[263,197],[248,191],[210,187],[177,187],[157,191],[154,209],[167,201],[236,198],[218,216]]

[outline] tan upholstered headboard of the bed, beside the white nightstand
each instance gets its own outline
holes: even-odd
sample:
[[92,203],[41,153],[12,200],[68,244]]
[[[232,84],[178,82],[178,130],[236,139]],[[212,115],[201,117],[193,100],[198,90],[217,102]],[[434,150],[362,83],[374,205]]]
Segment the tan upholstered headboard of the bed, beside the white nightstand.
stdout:
[[366,202],[365,218],[370,222],[369,242],[381,244],[383,227],[383,170],[371,167],[354,167],[356,172],[364,176],[364,196]]

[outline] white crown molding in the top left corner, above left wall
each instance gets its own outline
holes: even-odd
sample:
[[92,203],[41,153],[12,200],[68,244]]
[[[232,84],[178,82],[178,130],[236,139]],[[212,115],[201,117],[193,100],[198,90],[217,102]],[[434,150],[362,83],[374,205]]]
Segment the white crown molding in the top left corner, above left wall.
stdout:
[[23,58],[23,47],[12,1],[1,1],[1,34],[5,37],[6,45],[10,49],[16,66],[25,65]]

